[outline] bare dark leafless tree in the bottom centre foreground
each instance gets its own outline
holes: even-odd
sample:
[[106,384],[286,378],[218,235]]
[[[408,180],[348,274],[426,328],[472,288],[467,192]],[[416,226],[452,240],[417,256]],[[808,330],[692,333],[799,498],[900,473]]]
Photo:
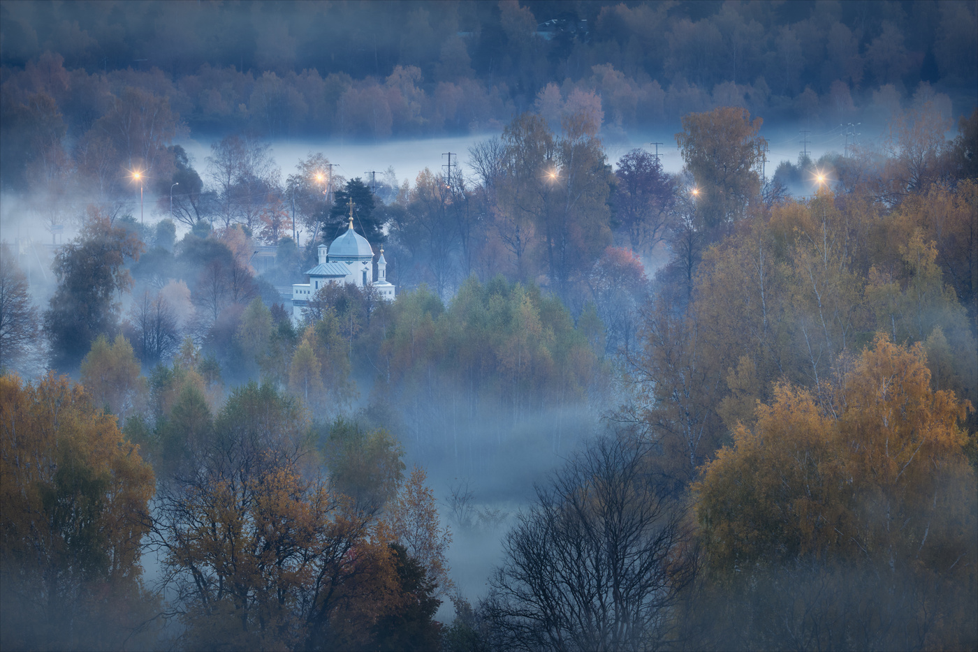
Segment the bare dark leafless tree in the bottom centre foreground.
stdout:
[[503,542],[487,615],[516,650],[649,649],[692,577],[683,510],[649,481],[648,444],[600,439],[572,457]]

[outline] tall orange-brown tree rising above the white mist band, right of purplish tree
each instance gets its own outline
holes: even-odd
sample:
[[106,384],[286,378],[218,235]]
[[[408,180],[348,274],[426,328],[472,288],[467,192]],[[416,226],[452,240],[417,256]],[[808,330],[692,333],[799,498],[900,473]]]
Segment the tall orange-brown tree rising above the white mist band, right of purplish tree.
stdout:
[[758,163],[767,141],[758,135],[761,118],[745,109],[721,107],[683,116],[676,134],[683,160],[696,183],[699,210],[713,229],[744,215],[761,190]]

